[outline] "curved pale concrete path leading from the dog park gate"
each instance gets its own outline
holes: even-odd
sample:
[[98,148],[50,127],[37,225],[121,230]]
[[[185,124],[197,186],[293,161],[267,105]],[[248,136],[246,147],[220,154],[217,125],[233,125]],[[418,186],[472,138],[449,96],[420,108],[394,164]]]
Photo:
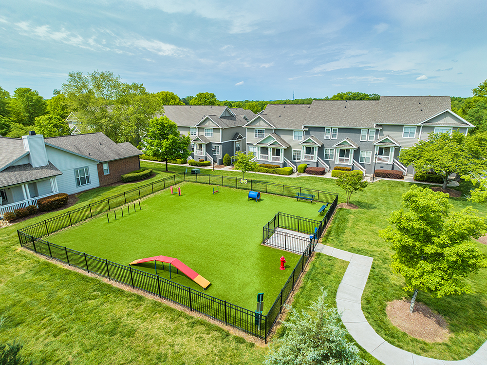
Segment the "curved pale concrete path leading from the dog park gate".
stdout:
[[337,308],[341,320],[355,341],[386,365],[487,365],[487,341],[477,352],[459,361],[436,360],[401,350],[375,333],[362,312],[362,292],[372,267],[372,257],[357,255],[318,244],[316,252],[349,261],[337,291]]

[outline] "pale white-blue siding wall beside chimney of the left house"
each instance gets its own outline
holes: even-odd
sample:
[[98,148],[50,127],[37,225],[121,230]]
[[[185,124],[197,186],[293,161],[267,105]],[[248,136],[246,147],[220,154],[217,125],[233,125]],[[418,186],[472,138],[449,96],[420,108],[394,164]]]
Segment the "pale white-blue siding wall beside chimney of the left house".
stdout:
[[[82,192],[100,186],[96,161],[70,154],[69,152],[61,151],[51,146],[46,146],[46,151],[49,161],[62,172],[62,175],[57,176],[57,187],[59,192],[74,194],[75,192]],[[90,184],[77,187],[75,169],[80,169],[82,167],[88,167]]]

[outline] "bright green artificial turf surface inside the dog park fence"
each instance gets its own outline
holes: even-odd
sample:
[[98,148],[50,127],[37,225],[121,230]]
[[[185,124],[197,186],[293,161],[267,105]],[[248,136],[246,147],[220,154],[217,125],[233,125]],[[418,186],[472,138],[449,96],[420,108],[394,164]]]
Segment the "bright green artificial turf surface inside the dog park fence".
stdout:
[[[211,282],[206,293],[254,310],[257,293],[264,293],[264,312],[274,302],[300,255],[261,245],[262,226],[278,212],[320,220],[321,205],[261,194],[247,201],[247,191],[184,183],[182,196],[169,189],[141,202],[142,210],[121,217],[102,215],[50,236],[49,241],[73,250],[128,265],[145,257],[175,257]],[[216,188],[216,187],[215,187]],[[280,257],[286,270],[280,270]],[[169,279],[168,264],[157,263],[159,276]],[[134,268],[155,273],[154,262]],[[185,275],[171,272],[172,281],[203,289]]]

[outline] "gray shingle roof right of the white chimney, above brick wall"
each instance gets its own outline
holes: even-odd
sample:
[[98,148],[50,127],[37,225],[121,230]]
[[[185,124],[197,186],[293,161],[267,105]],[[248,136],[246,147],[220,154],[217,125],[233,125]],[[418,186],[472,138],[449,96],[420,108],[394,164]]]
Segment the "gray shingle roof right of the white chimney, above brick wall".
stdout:
[[44,138],[47,145],[73,152],[98,162],[119,160],[142,154],[130,142],[115,143],[105,134],[87,133]]

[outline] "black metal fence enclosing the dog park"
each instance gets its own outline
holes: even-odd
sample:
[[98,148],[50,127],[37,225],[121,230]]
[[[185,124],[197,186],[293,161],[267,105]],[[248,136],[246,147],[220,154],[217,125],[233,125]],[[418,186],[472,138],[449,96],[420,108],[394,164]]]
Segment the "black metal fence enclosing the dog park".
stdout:
[[[271,222],[273,222],[273,229],[275,229],[275,227],[282,227],[303,233],[311,232],[311,234],[314,233],[314,229],[317,227],[315,222],[318,222],[319,234],[313,236],[304,250],[299,252],[301,254],[301,258],[298,264],[293,269],[292,274],[289,276],[286,284],[281,289],[280,294],[269,309],[267,315],[258,314],[252,310],[236,306],[232,303],[226,302],[225,300],[212,297],[211,295],[198,290],[185,287],[165,278],[161,278],[158,275],[133,269],[131,266],[117,264],[106,259],[92,256],[85,252],[68,249],[67,247],[62,247],[41,239],[43,236],[67,227],[71,227],[76,223],[94,218],[99,214],[126,205],[135,200],[141,199],[142,197],[153,194],[154,192],[167,189],[172,184],[175,185],[184,181],[227,186],[244,190],[258,190],[260,192],[266,192],[269,194],[292,197],[296,196],[297,192],[310,193],[315,195],[315,200],[321,202],[329,202],[327,199],[333,198],[331,199],[333,201],[332,207],[329,209],[321,222],[285,213],[278,213],[273,220],[271,220]],[[19,235],[20,245],[29,250],[33,250],[44,256],[54,258],[67,265],[86,270],[87,272],[92,272],[108,278],[109,280],[123,283],[131,286],[132,288],[138,288],[148,293],[158,295],[160,298],[165,298],[169,301],[187,307],[191,311],[200,312],[229,326],[239,328],[244,332],[252,334],[267,342],[267,336],[272,326],[276,322],[279,313],[281,313],[282,304],[285,303],[292,290],[294,290],[294,286],[314,250],[317,237],[321,235],[322,230],[324,230],[326,223],[331,217],[331,214],[333,214],[333,211],[335,211],[337,199],[338,194],[321,192],[313,189],[279,185],[257,180],[247,180],[247,183],[245,183],[244,181],[241,182],[238,178],[219,175],[191,175],[179,173],[166,177],[162,180],[131,189],[127,192],[122,192],[73,211],[68,211],[53,218],[46,219],[34,225],[25,227],[22,230],[18,230],[17,232]],[[326,223],[323,226],[323,222],[325,222],[325,220]],[[269,222],[269,227],[270,224],[271,223]],[[275,226],[276,224],[277,226]]]

